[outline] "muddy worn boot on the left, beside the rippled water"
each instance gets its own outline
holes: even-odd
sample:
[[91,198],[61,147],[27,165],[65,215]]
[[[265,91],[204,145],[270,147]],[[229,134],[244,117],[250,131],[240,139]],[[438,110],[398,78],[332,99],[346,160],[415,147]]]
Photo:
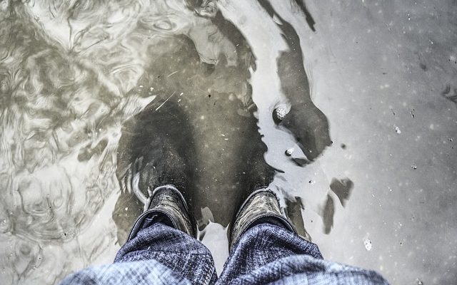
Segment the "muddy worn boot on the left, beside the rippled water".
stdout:
[[173,185],[157,187],[150,193],[147,210],[136,219],[127,241],[136,237],[146,223],[161,222],[196,237],[196,222],[191,219],[186,199]]

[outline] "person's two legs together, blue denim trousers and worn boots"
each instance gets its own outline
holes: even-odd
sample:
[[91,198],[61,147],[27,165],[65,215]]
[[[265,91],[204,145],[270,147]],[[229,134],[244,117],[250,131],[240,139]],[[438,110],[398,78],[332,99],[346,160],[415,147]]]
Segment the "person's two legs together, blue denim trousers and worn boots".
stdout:
[[169,175],[155,181],[161,186],[151,192],[114,264],[89,267],[61,284],[387,284],[374,271],[323,260],[266,189],[253,192],[238,210],[218,279],[209,250],[195,239],[187,199],[166,183]]

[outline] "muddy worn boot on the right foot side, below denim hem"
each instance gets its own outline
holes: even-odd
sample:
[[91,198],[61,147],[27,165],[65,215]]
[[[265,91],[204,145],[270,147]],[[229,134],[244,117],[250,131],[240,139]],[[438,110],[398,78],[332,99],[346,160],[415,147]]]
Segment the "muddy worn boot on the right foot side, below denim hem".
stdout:
[[296,233],[296,229],[281,212],[276,194],[271,190],[257,190],[249,195],[236,214],[230,230],[229,252],[243,233],[263,222],[276,224]]

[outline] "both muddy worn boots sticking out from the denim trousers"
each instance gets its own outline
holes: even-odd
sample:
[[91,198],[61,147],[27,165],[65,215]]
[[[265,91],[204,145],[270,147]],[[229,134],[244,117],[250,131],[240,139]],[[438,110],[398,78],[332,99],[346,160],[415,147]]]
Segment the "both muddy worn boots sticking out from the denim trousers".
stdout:
[[[156,217],[157,221],[196,237],[196,222],[191,219],[186,199],[174,185],[157,187],[149,195],[147,210],[136,219],[128,241],[136,237],[146,217]],[[276,194],[271,190],[256,190],[246,198],[231,223],[229,251],[244,232],[263,222],[276,224],[296,233],[296,229],[281,212]]]

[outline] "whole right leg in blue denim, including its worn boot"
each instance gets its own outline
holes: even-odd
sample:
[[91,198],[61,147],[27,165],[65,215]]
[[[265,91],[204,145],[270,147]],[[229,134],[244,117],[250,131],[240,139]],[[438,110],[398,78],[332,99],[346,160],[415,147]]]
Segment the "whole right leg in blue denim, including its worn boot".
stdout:
[[238,212],[218,283],[387,284],[374,271],[324,261],[316,244],[291,229],[268,191],[254,192]]

